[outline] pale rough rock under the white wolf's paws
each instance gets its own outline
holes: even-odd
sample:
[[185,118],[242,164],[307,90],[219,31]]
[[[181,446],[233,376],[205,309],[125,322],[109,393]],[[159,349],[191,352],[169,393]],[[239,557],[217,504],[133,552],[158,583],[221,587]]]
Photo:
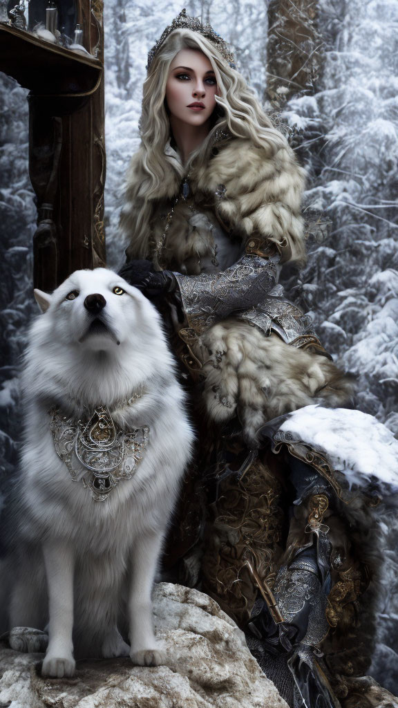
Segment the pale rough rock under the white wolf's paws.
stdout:
[[0,705],[9,708],[287,708],[243,633],[198,590],[160,583],[154,622],[165,666],[130,658],[78,661],[71,679],[43,679],[42,654],[0,649]]

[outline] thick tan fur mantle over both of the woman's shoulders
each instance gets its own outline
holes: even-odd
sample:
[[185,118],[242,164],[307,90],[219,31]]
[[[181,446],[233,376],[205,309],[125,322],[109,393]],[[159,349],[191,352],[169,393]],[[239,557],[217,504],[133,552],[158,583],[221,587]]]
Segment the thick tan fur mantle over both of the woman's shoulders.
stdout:
[[[164,222],[157,217],[171,209],[185,176],[178,155],[169,145],[166,153],[171,169],[165,172],[159,184],[157,198],[150,200],[152,233],[148,233],[148,244],[149,235],[155,242],[161,238]],[[142,150],[139,150],[132,158],[120,222],[131,241],[127,248],[130,259],[149,255],[149,251],[142,252],[140,244],[135,241],[137,212],[146,199],[147,173],[142,157]],[[186,173],[196,207],[210,210],[232,239],[239,239],[248,245],[254,237],[256,244],[249,246],[254,252],[258,250],[258,240],[262,244],[273,243],[282,263],[305,260],[303,219],[300,215],[305,170],[297,164],[287,142],[275,154],[269,154],[265,147],[257,147],[247,138],[222,134],[213,142],[209,159],[197,165],[194,160],[191,166],[188,164]],[[176,205],[176,221],[183,207],[181,202]],[[172,252],[179,251],[184,235],[181,229],[170,229],[167,247]]]

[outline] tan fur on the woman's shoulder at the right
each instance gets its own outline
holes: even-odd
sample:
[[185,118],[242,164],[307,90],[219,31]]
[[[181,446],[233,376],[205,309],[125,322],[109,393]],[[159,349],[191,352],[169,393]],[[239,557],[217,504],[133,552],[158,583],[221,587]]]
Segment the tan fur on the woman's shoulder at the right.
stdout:
[[242,240],[272,241],[283,263],[305,262],[304,225],[300,215],[305,170],[288,142],[273,156],[249,140],[234,139],[220,149],[199,186],[225,190],[216,205],[220,221]]

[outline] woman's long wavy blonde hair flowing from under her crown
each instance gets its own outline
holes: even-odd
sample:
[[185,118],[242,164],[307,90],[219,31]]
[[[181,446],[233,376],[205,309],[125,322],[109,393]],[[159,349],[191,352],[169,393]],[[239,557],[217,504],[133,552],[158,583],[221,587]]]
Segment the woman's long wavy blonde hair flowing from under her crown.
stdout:
[[210,40],[193,30],[177,29],[171,32],[154,56],[144,81],[141,145],[127,176],[127,203],[120,219],[123,231],[132,234],[135,252],[144,258],[149,253],[151,200],[157,198],[170,170],[180,169],[181,178],[187,170],[187,165],[179,168],[176,161],[164,152],[170,138],[169,116],[164,100],[169,69],[176,54],[187,48],[200,50],[209,59],[218,87],[218,95],[215,96],[217,106],[212,116],[214,125],[200,147],[189,157],[189,164],[195,161],[200,166],[207,162],[213,135],[219,128],[225,128],[237,137],[251,139],[255,145],[265,149],[268,156],[286,145],[285,138],[275,130],[244,77],[229,66]]

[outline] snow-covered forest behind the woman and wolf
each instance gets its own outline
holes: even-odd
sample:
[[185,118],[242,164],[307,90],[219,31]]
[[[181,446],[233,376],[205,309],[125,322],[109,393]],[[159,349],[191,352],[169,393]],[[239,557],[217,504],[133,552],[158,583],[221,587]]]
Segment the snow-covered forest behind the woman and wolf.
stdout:
[[[181,11],[181,0],[106,0],[106,238],[108,265],[123,263],[118,235],[123,178],[138,147],[147,51]],[[358,377],[356,406],[398,436],[398,4],[395,0],[319,0],[322,70],[282,108],[292,144],[309,172],[307,207],[331,219],[309,236],[309,259],[292,297],[314,316],[340,365]],[[267,3],[190,0],[232,43],[239,70],[266,101]],[[28,178],[27,91],[0,74],[0,445],[2,480],[13,474],[20,438],[18,366],[36,312]],[[379,644],[372,673],[398,694],[398,533],[391,525]]]

